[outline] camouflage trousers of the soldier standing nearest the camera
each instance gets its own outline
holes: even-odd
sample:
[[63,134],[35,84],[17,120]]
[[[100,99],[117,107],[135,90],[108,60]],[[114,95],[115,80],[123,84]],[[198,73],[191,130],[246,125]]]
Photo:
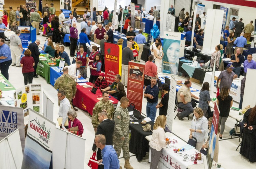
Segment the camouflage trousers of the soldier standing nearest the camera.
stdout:
[[117,157],[120,156],[121,150],[123,149],[123,157],[125,160],[130,159],[130,153],[129,153],[129,134],[125,136],[124,140],[121,140],[120,136],[113,135],[113,146],[116,150]]

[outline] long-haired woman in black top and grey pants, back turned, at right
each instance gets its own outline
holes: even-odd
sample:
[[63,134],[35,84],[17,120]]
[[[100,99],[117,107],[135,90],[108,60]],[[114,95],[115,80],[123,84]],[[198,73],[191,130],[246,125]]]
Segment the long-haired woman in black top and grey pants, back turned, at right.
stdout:
[[229,96],[228,86],[222,88],[221,93],[217,97],[217,105],[219,106],[219,126],[221,128],[219,138],[222,139],[225,123],[228,119],[230,108],[233,105],[233,98]]

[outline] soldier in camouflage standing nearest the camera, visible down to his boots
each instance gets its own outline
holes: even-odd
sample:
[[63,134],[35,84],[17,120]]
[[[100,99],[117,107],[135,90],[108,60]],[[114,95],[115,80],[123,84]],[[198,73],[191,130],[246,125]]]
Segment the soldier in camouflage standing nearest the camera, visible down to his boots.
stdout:
[[129,153],[129,124],[130,116],[128,112],[129,99],[122,97],[121,105],[116,108],[114,112],[115,129],[113,133],[113,146],[116,150],[117,156],[120,156],[121,150],[123,149],[123,156],[125,159],[125,168],[133,169],[130,165],[130,153]]

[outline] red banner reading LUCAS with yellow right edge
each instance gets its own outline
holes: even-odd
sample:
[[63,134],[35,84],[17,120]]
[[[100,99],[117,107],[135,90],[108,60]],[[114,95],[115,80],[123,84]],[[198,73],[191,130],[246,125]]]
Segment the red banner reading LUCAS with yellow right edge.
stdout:
[[122,45],[105,42],[105,79],[115,81],[115,75],[122,72]]

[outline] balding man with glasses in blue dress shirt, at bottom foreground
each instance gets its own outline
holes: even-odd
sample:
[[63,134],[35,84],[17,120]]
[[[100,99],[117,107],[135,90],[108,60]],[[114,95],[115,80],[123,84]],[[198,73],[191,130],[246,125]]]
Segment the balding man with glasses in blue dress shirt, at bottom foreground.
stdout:
[[119,160],[117,153],[113,146],[106,145],[106,138],[102,134],[95,136],[94,144],[101,149],[102,159],[98,160],[99,163],[104,164],[104,168],[119,169]]

